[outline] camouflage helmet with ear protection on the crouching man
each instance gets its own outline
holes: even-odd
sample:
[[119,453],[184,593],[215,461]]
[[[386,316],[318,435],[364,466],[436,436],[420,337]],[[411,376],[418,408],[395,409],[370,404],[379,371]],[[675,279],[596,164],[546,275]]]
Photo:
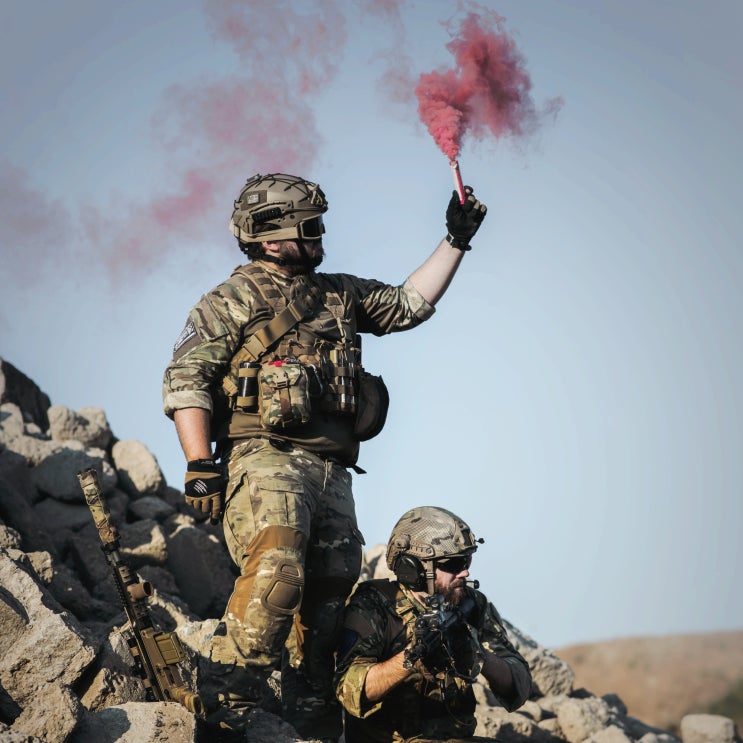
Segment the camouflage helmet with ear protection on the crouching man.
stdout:
[[419,506],[403,514],[387,543],[387,567],[398,581],[434,592],[436,562],[471,555],[482,539],[456,514],[437,506]]

